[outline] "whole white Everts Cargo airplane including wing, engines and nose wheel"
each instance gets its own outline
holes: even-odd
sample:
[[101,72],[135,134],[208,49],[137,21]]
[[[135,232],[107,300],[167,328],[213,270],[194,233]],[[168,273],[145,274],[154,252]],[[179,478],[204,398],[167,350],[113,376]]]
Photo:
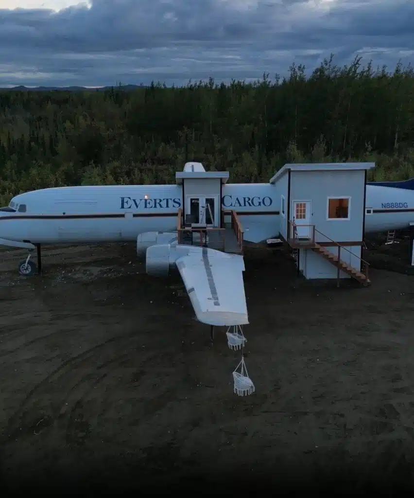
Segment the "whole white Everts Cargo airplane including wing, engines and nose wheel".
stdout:
[[[201,166],[201,165],[200,165]],[[204,170],[204,168],[203,168]],[[398,230],[414,220],[414,179],[367,184],[365,233]],[[279,235],[279,204],[271,184],[225,184],[223,209],[234,210],[244,229],[243,240],[261,242]],[[197,318],[211,326],[248,323],[242,272],[243,256],[177,244],[180,185],[113,185],[41,189],[13,197],[0,208],[0,245],[40,248],[44,244],[136,241],[146,254],[150,275],[167,275],[177,267]],[[208,206],[206,206],[208,207]],[[32,275],[35,263],[19,264]],[[231,289],[231,290],[229,290]]]

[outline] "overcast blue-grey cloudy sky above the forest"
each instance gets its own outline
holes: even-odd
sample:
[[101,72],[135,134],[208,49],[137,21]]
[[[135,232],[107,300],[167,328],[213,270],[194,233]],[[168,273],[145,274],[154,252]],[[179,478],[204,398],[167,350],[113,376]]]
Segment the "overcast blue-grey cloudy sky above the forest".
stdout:
[[414,63],[414,0],[0,0],[1,87],[250,80],[331,52]]

